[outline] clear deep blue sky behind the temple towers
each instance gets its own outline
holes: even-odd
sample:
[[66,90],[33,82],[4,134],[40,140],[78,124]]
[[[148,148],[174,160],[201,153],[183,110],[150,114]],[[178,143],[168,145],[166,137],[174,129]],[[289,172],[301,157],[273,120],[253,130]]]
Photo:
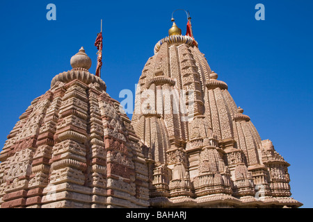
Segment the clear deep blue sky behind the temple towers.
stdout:
[[[56,5],[56,21],[46,6]],[[255,20],[255,5],[265,21]],[[193,34],[211,69],[255,124],[291,164],[292,196],[313,207],[313,1],[1,1],[0,144],[51,79],[71,69],[70,58],[93,46],[104,19],[102,78],[118,101],[138,82],[154,44],[168,35],[173,10],[191,12]],[[186,32],[186,15],[175,12]]]

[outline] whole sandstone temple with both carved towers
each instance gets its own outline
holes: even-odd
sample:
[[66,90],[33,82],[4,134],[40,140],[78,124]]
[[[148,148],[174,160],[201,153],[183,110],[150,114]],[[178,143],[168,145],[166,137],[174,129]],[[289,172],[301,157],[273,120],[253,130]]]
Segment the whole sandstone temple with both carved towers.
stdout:
[[70,63],[8,135],[1,208],[302,205],[288,162],[175,23],[143,68],[131,120],[83,48]]

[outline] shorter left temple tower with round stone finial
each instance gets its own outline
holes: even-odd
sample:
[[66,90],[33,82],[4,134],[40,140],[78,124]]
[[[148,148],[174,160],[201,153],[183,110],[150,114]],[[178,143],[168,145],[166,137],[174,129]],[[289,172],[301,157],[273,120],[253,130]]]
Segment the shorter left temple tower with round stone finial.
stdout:
[[81,49],[71,71],[19,117],[0,155],[6,207],[147,207],[147,167],[131,121],[90,74]]

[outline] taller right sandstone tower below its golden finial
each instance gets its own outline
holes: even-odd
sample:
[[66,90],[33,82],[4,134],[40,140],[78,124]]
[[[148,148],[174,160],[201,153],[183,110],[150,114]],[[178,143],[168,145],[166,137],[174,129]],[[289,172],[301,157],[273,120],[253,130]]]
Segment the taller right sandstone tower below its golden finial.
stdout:
[[146,146],[150,205],[299,207],[289,164],[217,78],[188,36],[160,40],[147,60],[131,123]]

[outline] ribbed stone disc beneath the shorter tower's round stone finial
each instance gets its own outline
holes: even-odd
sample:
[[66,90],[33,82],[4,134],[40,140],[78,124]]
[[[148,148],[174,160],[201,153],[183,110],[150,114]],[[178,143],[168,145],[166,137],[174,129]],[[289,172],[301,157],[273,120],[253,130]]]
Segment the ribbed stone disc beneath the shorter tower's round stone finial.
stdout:
[[106,83],[104,83],[104,80],[99,78],[98,76],[95,76],[93,74],[90,74],[87,69],[72,69],[70,71],[63,71],[63,73],[58,74],[54,76],[54,78],[51,80],[51,88],[57,83],[70,83],[72,80],[81,80],[83,83],[86,83],[89,85],[90,83],[98,83],[100,89],[103,89],[106,91]]

